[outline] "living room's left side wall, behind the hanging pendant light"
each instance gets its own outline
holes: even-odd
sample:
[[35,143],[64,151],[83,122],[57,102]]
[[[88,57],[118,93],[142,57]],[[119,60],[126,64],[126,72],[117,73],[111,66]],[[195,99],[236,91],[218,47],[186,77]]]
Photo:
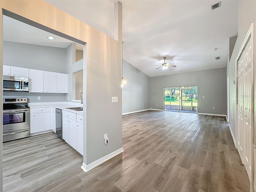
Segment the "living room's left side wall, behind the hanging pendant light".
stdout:
[[123,76],[129,82],[122,88],[122,113],[150,108],[150,78],[124,60]]

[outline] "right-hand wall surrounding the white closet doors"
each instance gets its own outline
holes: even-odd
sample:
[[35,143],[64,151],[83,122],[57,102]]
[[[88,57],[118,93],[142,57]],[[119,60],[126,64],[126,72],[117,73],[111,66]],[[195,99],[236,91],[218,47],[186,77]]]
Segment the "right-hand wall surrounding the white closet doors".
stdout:
[[[234,84],[234,80],[236,80],[236,57],[238,56],[238,52],[244,38],[250,28],[251,23],[254,23],[254,39],[256,35],[255,30],[255,22],[256,22],[256,1],[239,1],[238,3],[238,37],[236,39],[236,44],[234,46],[234,50],[232,52],[232,56],[227,66],[227,75],[229,77],[229,122],[230,127],[232,130],[233,135],[236,139],[236,84]],[[256,41],[254,41],[254,48],[256,47]],[[256,70],[255,70],[255,58],[256,58],[256,51],[254,50],[254,85],[256,83]],[[255,98],[255,86],[253,92],[253,98]],[[255,108],[256,102],[254,102],[254,117],[253,117],[253,127],[256,127],[256,120],[255,120]],[[255,130],[255,129],[254,129]],[[254,142],[256,138],[254,136]]]

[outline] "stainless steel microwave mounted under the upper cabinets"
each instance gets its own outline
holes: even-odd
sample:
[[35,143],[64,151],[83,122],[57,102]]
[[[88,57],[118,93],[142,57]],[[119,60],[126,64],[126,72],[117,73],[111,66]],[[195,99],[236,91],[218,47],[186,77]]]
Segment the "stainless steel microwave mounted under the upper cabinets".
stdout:
[[29,82],[26,77],[5,76],[3,82],[4,91],[28,91]]

